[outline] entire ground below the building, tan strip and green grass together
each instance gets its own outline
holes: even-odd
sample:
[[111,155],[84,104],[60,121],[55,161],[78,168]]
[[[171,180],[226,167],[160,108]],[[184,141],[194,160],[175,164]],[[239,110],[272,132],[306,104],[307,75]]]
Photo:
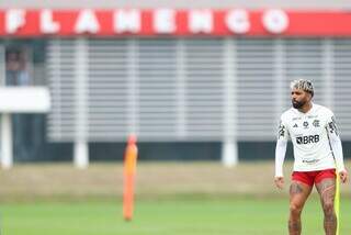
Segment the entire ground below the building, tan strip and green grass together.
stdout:
[[[140,163],[132,222],[122,220],[122,171],[121,164],[0,170],[1,235],[287,234],[288,187],[275,189],[271,161],[231,169],[218,163]],[[340,235],[351,234],[350,212],[346,184]],[[324,234],[321,214],[314,191],[303,214],[303,234]]]

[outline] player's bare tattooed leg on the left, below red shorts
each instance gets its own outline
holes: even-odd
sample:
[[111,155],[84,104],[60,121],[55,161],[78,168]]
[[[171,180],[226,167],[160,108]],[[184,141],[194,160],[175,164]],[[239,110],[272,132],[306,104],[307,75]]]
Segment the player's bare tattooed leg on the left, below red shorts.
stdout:
[[290,187],[290,235],[301,235],[301,213],[312,189],[313,187],[294,180]]

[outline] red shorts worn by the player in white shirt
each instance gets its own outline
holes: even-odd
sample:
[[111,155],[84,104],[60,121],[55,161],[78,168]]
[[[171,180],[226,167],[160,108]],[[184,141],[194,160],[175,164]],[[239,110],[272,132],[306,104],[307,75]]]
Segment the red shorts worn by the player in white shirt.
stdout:
[[326,178],[336,178],[336,169],[294,171],[292,175],[292,180],[296,180],[312,187],[314,183],[318,183]]

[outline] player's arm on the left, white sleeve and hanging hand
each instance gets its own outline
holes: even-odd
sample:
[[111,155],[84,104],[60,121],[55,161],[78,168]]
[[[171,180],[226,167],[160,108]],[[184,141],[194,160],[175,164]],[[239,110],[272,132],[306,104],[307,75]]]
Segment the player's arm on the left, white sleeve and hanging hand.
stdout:
[[278,139],[275,146],[275,178],[274,183],[279,189],[284,187],[284,176],[283,176],[283,164],[286,153],[288,139],[288,132],[286,128],[283,119],[281,119],[279,130],[278,130]]

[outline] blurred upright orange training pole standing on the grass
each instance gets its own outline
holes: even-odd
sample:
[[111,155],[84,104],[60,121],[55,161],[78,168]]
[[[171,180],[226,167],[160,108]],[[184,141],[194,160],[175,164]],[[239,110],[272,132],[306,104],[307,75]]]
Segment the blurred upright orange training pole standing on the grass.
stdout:
[[124,191],[123,191],[123,217],[131,221],[134,210],[134,181],[136,172],[138,149],[136,146],[136,136],[128,137],[124,155]]

